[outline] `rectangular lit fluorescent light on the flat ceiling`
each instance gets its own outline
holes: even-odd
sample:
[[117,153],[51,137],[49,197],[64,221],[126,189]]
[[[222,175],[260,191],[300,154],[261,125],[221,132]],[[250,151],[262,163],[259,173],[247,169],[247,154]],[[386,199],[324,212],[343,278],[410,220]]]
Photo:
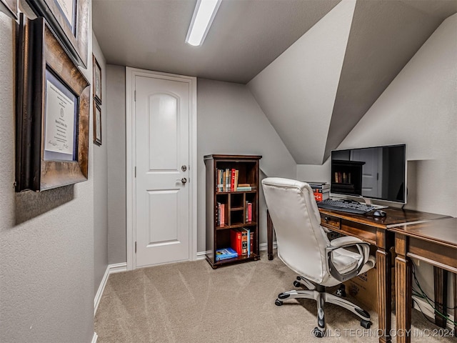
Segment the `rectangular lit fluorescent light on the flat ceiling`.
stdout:
[[220,4],[221,0],[197,0],[186,43],[194,46],[203,44]]

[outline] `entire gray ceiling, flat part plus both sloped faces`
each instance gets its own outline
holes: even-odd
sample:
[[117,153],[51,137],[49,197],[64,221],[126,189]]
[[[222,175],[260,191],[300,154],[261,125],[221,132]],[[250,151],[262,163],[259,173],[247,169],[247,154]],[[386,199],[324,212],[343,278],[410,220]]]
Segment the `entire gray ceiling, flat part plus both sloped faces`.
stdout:
[[93,0],[107,63],[248,84],[298,164],[325,161],[457,12],[457,0],[222,0],[195,47],[195,4]]

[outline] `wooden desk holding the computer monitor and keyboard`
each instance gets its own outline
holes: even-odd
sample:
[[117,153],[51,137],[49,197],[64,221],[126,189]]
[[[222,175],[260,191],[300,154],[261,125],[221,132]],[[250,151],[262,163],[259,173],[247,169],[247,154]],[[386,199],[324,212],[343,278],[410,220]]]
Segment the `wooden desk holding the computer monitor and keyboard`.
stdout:
[[[378,274],[378,328],[383,335],[379,342],[391,342],[391,266],[393,265],[391,248],[393,248],[394,234],[388,231],[389,227],[397,225],[430,221],[446,218],[441,214],[417,212],[407,209],[384,209],[387,217],[382,219],[368,215],[351,214],[345,212],[319,209],[321,225],[334,232],[358,237],[363,241],[376,245],[376,270]],[[273,259],[273,223],[267,211],[267,249],[268,259]]]

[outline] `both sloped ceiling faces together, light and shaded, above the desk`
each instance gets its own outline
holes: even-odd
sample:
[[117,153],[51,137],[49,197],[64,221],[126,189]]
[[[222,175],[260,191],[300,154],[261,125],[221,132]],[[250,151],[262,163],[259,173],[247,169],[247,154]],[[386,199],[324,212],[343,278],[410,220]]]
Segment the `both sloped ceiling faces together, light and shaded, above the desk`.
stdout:
[[[248,84],[297,164],[322,164],[433,31],[457,12],[457,1],[357,0],[348,36],[331,34],[332,29],[340,29],[348,10],[346,2],[352,1],[338,4]],[[343,51],[334,50],[332,55],[335,63],[343,59],[341,69],[321,63],[326,56],[313,61],[307,59],[311,52],[295,49],[303,39],[316,34],[325,42],[322,44],[347,42]],[[313,48],[318,51],[320,44],[308,46]],[[286,58],[303,61],[316,77],[303,77],[300,71],[305,66],[283,63]],[[333,99],[328,98],[331,89],[319,87],[323,79],[332,77],[328,73],[338,82]],[[283,79],[282,74],[288,78]],[[301,96],[291,99],[296,90]]]

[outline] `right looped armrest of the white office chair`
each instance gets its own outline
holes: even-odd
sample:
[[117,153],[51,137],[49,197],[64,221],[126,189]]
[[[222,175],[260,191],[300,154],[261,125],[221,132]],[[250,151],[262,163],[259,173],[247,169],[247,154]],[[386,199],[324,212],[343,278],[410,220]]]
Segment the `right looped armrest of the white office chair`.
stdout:
[[[340,272],[338,272],[338,269],[336,269],[335,265],[333,264],[332,253],[336,249],[346,247],[356,247],[358,250],[358,254],[360,254],[361,256],[361,259],[358,260],[358,264],[356,265],[356,267],[351,269],[349,272],[341,274]],[[328,269],[331,276],[337,279],[339,282],[344,282],[358,275],[362,267],[366,264],[366,262],[368,261],[368,257],[370,257],[370,244],[363,242],[361,239],[358,239],[357,237],[338,237],[330,242],[330,246],[326,247],[326,253],[328,259]]]

